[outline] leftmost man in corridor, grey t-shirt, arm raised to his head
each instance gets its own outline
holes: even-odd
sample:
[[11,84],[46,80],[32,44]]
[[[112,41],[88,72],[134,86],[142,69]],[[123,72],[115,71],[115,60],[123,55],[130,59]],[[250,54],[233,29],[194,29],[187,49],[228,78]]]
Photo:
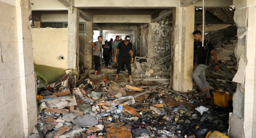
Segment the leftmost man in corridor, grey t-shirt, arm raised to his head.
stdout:
[[99,67],[100,67],[100,53],[102,51],[102,36],[98,36],[98,41],[91,43],[91,45],[95,48],[93,51],[93,59],[95,64],[95,72],[94,74],[97,75]]

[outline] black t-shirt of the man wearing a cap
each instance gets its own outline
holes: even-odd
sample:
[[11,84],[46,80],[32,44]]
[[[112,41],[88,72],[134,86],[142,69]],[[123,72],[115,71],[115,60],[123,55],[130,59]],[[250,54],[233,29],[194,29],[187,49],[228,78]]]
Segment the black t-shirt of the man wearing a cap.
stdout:
[[119,49],[118,60],[127,60],[129,58],[129,52],[132,50],[132,43],[129,42],[127,45],[124,41],[120,42],[117,45],[117,49]]

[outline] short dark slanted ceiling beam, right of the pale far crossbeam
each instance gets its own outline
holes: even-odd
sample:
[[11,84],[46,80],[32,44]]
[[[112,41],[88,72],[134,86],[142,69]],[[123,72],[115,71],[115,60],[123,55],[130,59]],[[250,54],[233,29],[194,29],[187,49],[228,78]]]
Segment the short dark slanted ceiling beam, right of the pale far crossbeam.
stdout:
[[151,23],[155,23],[173,13],[173,9],[160,9],[151,15]]

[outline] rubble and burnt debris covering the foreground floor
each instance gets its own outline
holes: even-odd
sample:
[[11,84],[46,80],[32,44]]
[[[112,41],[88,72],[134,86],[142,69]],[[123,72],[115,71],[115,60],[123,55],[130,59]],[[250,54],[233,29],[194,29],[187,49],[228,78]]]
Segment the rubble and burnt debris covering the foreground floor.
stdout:
[[[170,59],[159,60],[166,65]],[[160,66],[159,60],[141,64],[151,72],[152,65]],[[103,69],[101,75],[94,75],[88,69],[78,77],[77,71],[66,70],[48,86],[37,81],[38,131],[30,138],[204,138],[211,132],[227,134],[231,108],[214,107],[212,101],[194,98],[192,92],[173,91],[169,84],[114,81],[111,71]]]

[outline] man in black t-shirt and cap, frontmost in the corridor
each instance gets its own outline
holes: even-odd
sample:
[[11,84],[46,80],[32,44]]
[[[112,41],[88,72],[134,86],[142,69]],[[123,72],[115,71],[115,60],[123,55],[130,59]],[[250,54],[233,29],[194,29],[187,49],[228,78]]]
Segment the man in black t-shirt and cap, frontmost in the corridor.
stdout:
[[[126,65],[126,68],[128,70],[128,74],[129,74],[129,82],[132,82],[132,69],[131,69],[131,62],[130,62],[130,57],[129,57],[129,52],[132,56],[132,43],[130,42],[131,40],[131,36],[126,35],[125,36],[125,40],[120,42],[117,46],[116,52],[115,52],[115,58],[114,61],[116,62],[116,54],[117,51],[119,50],[119,56],[118,56],[118,67],[117,67],[117,71],[116,71],[116,78],[115,80],[118,79],[118,74],[123,66],[123,64]],[[133,57],[132,60],[133,62]]]

